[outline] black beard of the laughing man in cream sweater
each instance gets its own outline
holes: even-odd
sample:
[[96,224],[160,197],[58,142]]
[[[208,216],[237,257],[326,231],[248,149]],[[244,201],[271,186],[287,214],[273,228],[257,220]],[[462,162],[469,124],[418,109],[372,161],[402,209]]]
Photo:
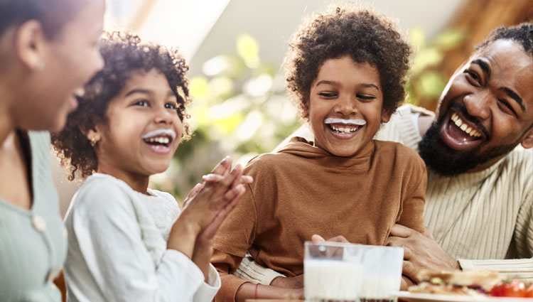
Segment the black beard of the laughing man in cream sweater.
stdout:
[[[471,117],[463,106],[461,113],[467,119],[475,119]],[[443,114],[437,122],[433,122],[429,127],[424,137],[419,142],[419,154],[426,163],[426,166],[441,176],[456,176],[465,173],[475,167],[483,165],[488,161],[498,158],[504,154],[509,153],[519,144],[522,139],[515,141],[513,144],[495,146],[486,151],[480,151],[483,144],[475,147],[472,150],[459,151],[450,148],[446,145],[439,134],[443,119],[447,117]]]

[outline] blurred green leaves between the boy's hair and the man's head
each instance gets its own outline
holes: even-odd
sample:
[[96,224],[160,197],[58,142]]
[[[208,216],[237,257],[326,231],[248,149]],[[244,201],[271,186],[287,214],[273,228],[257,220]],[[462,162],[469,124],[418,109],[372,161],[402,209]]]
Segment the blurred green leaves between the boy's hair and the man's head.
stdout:
[[428,103],[437,101],[448,80],[437,69],[443,60],[443,53],[460,45],[464,38],[463,31],[452,29],[440,33],[428,43],[423,28],[417,27],[410,31],[409,40],[416,49],[416,55],[405,86],[408,103],[432,107]]

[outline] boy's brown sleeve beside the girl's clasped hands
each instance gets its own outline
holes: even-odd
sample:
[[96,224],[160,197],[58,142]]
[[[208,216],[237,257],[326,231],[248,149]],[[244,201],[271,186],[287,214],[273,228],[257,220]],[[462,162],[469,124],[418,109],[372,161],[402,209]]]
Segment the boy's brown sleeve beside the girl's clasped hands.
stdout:
[[[245,174],[254,176],[248,172],[244,171]],[[252,247],[256,222],[254,194],[252,187],[248,186],[246,193],[224,220],[215,236],[213,243],[215,251],[211,263],[217,268],[222,281],[215,301],[235,301],[237,290],[247,282],[232,273],[237,270],[248,249]]]

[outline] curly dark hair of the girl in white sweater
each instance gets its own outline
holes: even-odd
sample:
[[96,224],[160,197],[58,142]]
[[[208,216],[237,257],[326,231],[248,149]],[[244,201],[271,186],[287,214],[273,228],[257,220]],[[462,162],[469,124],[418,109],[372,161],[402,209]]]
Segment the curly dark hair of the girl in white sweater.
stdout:
[[[78,107],[68,115],[65,129],[52,134],[52,144],[58,152],[58,158],[69,169],[69,180],[74,180],[76,173],[81,178],[87,178],[97,171],[95,149],[81,129],[94,129],[97,123],[107,123],[109,101],[124,88],[132,72],[160,71],[176,95],[176,111],[181,121],[189,117],[185,112],[185,105],[190,103],[188,80],[185,77],[188,65],[178,50],[141,43],[139,36],[116,31],[107,33],[101,39],[100,53],[104,68],[87,82],[84,95],[77,97]],[[190,135],[185,123],[183,134],[185,138]]]

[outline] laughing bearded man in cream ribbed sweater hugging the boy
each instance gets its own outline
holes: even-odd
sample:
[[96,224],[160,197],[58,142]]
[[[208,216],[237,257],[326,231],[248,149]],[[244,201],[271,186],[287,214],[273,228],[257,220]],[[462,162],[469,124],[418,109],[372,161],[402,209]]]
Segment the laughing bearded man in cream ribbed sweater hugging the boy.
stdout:
[[[293,135],[312,140],[305,127]],[[376,139],[419,151],[428,169],[426,234],[395,225],[387,240],[404,247],[405,275],[489,269],[533,281],[533,23],[492,32],[451,77],[436,114],[404,105]],[[254,280],[301,286],[244,266]]]

